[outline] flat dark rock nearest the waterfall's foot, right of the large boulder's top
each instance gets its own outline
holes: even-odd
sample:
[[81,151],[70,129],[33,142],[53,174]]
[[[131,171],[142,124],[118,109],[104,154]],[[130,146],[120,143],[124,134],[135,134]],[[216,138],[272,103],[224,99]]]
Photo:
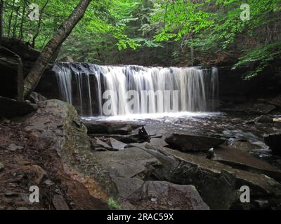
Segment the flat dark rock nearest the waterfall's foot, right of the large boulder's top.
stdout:
[[127,124],[127,123],[106,123],[98,121],[83,120],[89,134],[130,134],[142,125]]

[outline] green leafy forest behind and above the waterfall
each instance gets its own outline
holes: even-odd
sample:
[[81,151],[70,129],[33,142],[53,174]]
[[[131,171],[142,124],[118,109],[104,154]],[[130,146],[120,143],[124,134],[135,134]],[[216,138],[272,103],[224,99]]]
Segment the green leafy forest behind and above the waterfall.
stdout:
[[[76,0],[4,0],[3,36],[41,50]],[[30,20],[32,3],[39,20]],[[249,19],[241,15],[249,5]],[[280,0],[92,1],[58,52],[58,61],[145,66],[249,67],[280,70]]]

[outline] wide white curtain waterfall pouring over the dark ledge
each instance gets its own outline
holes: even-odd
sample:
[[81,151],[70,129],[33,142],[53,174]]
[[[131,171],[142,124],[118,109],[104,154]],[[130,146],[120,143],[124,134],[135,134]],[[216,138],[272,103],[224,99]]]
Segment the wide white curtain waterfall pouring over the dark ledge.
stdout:
[[213,111],[218,98],[216,68],[61,62],[53,71],[60,99],[74,105],[81,116]]

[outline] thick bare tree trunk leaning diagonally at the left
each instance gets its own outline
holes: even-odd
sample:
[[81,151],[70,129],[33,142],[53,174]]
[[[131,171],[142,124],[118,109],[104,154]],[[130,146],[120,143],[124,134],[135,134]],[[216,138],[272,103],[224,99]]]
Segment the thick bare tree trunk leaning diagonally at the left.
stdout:
[[90,3],[91,0],[80,0],[78,6],[73,10],[72,14],[67,18],[67,20],[65,20],[65,22],[63,22],[63,25],[60,26],[56,34],[44,47],[37,61],[25,78],[25,98],[28,97],[37,86],[46,66],[51,61],[53,54],[58,50],[67,36],[70,35],[72,29],[75,25],[77,25],[79,20],[83,18]]

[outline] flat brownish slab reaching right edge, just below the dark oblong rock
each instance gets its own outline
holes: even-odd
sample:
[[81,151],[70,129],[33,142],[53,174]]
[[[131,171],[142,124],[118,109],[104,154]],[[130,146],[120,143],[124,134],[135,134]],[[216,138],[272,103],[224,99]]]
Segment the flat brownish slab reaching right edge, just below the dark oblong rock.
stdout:
[[223,162],[230,167],[244,169],[259,174],[266,174],[273,179],[281,180],[281,170],[259,160],[249,153],[228,146],[216,148],[213,160]]

